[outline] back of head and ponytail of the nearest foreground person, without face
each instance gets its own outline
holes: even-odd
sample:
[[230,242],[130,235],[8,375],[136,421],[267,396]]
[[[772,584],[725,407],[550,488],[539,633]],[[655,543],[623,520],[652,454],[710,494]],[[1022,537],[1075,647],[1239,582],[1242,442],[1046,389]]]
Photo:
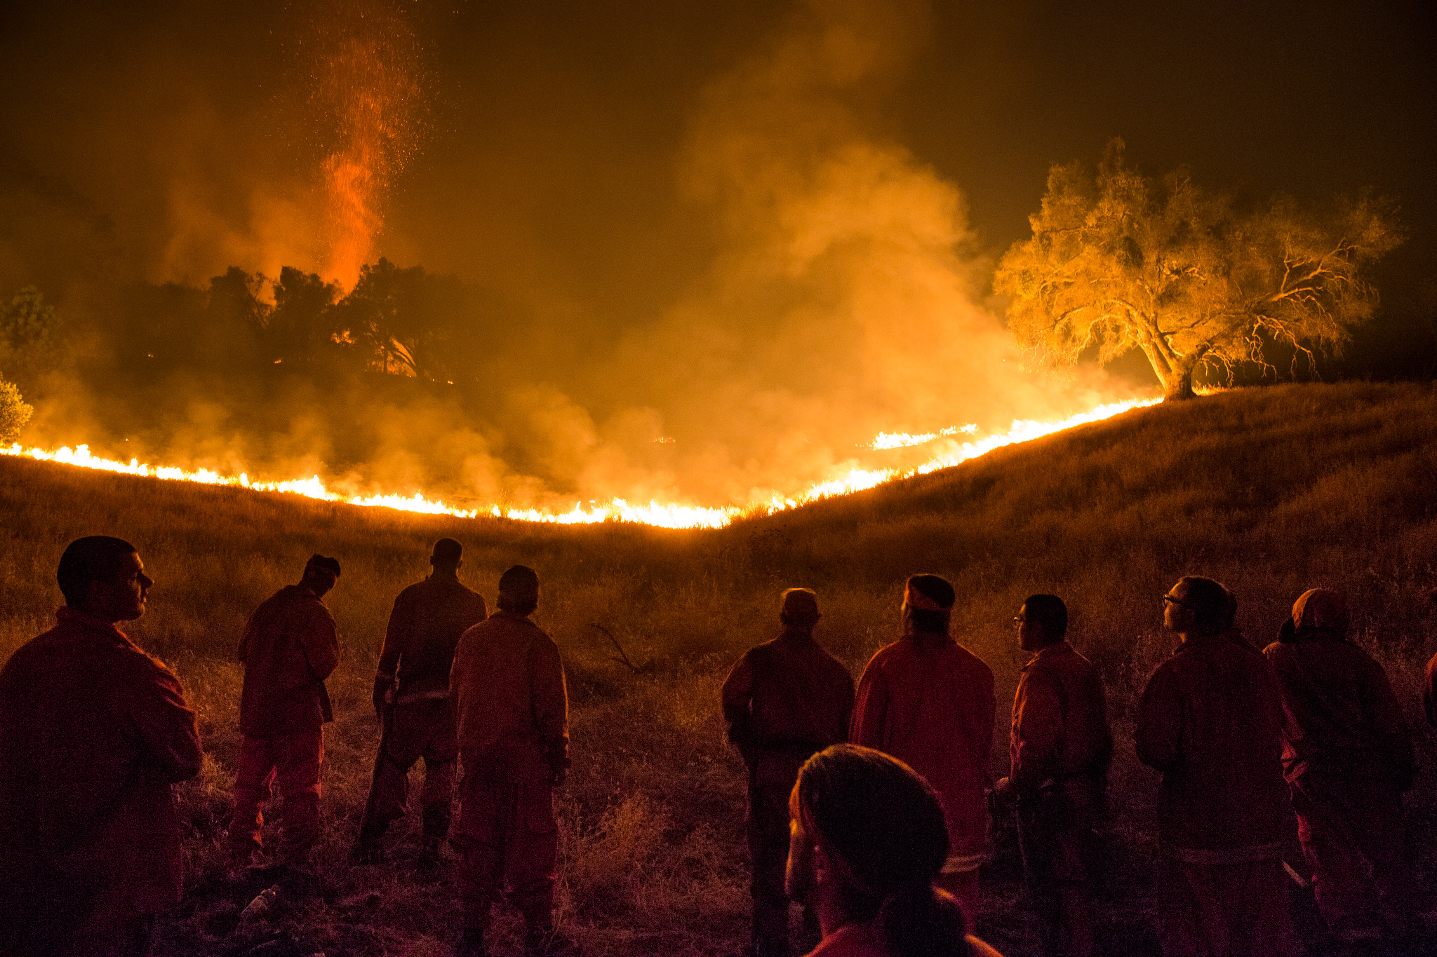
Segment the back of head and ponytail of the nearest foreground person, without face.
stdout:
[[882,752],[833,745],[799,770],[795,799],[803,829],[836,862],[851,920],[874,920],[894,957],[969,953],[963,911],[933,885],[948,828],[928,782]]

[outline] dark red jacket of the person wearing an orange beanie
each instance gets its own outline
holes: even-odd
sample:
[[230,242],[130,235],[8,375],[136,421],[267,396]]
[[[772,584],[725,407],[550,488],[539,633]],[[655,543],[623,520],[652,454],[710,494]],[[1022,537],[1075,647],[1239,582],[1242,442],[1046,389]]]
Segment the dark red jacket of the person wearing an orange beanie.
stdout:
[[1339,633],[1302,628],[1263,650],[1282,690],[1288,781],[1309,770],[1405,791],[1417,770],[1413,732],[1387,671]]

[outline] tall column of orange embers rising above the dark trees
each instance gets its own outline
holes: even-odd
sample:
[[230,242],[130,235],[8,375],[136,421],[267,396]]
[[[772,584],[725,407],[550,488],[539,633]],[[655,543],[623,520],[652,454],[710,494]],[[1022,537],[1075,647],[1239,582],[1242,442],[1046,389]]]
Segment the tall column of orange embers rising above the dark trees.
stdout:
[[329,212],[325,278],[352,287],[384,225],[394,178],[424,129],[425,57],[395,0],[331,0],[312,9],[300,43],[325,158]]

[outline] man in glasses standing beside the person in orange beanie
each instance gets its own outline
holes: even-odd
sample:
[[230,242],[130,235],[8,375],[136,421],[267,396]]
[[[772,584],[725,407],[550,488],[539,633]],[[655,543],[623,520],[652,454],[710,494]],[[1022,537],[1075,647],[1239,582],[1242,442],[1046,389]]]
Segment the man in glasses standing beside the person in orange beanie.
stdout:
[[1163,953],[1293,954],[1277,683],[1260,654],[1221,634],[1220,584],[1184,577],[1163,601],[1163,624],[1183,643],[1142,689],[1135,729],[1138,758],[1163,773]]

